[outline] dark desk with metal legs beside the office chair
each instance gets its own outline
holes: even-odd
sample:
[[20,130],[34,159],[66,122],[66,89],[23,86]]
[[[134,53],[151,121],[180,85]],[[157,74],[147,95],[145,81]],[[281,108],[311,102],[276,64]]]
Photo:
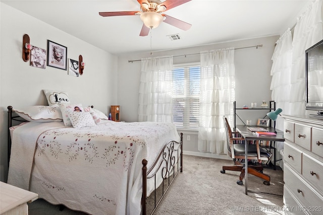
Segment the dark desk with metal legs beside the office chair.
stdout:
[[[268,129],[271,132],[277,132],[276,136],[256,136],[254,135],[250,130],[248,130],[248,127],[250,126],[246,126],[246,125],[236,125],[236,130],[241,134],[241,136],[243,138],[245,138],[245,152],[248,151],[248,144],[247,142],[249,140],[268,140],[268,141],[278,141],[278,142],[284,142],[285,138],[284,138],[284,132],[278,129],[275,129],[273,127],[268,127],[266,129]],[[254,192],[251,190],[248,190],[248,185],[247,185],[247,181],[248,181],[248,159],[247,159],[247,153],[245,153],[245,188],[246,188],[246,195],[248,195],[248,191],[249,192]]]

